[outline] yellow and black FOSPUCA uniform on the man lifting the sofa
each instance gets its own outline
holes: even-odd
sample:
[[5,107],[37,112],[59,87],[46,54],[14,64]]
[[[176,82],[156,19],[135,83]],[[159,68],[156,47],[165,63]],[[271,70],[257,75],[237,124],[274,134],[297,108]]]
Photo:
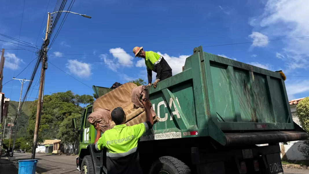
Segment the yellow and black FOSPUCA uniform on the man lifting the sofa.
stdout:
[[[150,125],[152,126],[152,125]],[[97,150],[107,148],[108,174],[142,173],[137,150],[138,139],[149,129],[149,123],[133,126],[116,125],[104,132],[95,144]]]

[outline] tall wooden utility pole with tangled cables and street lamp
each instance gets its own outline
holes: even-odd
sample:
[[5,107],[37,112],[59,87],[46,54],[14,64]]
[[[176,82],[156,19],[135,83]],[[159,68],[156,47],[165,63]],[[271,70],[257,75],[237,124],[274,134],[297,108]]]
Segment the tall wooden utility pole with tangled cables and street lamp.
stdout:
[[41,77],[40,77],[40,88],[39,88],[39,97],[38,97],[38,106],[36,108],[36,126],[34,129],[33,136],[33,146],[32,146],[32,156],[31,159],[34,159],[36,156],[36,145],[39,135],[40,128],[40,119],[41,119],[41,109],[43,106],[43,91],[44,91],[44,82],[45,82],[45,70],[47,69],[47,46],[49,45],[48,33],[52,28],[53,17],[48,13],[47,18],[47,27],[45,33],[45,41],[42,55],[42,68],[41,68]]

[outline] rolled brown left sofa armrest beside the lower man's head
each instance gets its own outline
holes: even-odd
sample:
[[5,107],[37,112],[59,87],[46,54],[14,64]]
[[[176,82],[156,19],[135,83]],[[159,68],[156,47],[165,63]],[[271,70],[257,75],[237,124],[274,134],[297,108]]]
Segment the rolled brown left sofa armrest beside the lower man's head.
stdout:
[[97,109],[88,116],[87,120],[91,125],[94,126],[99,123],[99,128],[101,129],[102,133],[108,129],[111,129],[112,117],[111,112],[107,109]]

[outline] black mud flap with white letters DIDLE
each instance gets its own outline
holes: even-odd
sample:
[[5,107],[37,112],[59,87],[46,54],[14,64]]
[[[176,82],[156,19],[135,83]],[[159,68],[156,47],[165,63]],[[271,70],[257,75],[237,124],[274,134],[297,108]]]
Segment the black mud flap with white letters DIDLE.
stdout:
[[284,174],[280,153],[266,155],[269,174]]

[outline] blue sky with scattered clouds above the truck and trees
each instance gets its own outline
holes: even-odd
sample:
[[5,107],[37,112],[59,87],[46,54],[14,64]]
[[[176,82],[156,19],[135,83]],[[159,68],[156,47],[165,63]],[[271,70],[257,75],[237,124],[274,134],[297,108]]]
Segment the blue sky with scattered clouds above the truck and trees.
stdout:
[[[47,12],[53,12],[56,0],[50,0],[49,5],[47,0],[25,0],[24,10],[23,3],[23,0],[2,2],[0,33],[18,39],[20,32],[20,40],[40,47],[47,21],[46,8]],[[306,0],[76,0],[71,11],[92,18],[68,15],[50,47],[49,62],[90,87],[110,87],[115,82],[146,80],[145,66],[136,66],[143,65],[143,62],[132,53],[135,46],[143,46],[146,51],[162,54],[176,74],[181,71],[185,58],[193,53],[193,48],[200,45],[309,36],[308,5]],[[3,36],[0,40],[15,42]],[[273,71],[283,70],[286,75],[308,76],[308,41],[308,38],[299,38],[208,47],[204,51]],[[0,47],[17,48],[1,41]],[[5,53],[3,83],[19,74],[35,58],[26,50],[6,50]],[[29,79],[34,62],[17,78]],[[49,64],[44,94],[66,90],[79,95],[93,93],[91,88],[61,70]],[[3,86],[3,92],[6,97],[17,101],[21,83],[13,81]],[[38,86],[33,88],[30,97],[37,96]],[[290,100],[308,96],[309,78],[287,77],[286,88]]]

